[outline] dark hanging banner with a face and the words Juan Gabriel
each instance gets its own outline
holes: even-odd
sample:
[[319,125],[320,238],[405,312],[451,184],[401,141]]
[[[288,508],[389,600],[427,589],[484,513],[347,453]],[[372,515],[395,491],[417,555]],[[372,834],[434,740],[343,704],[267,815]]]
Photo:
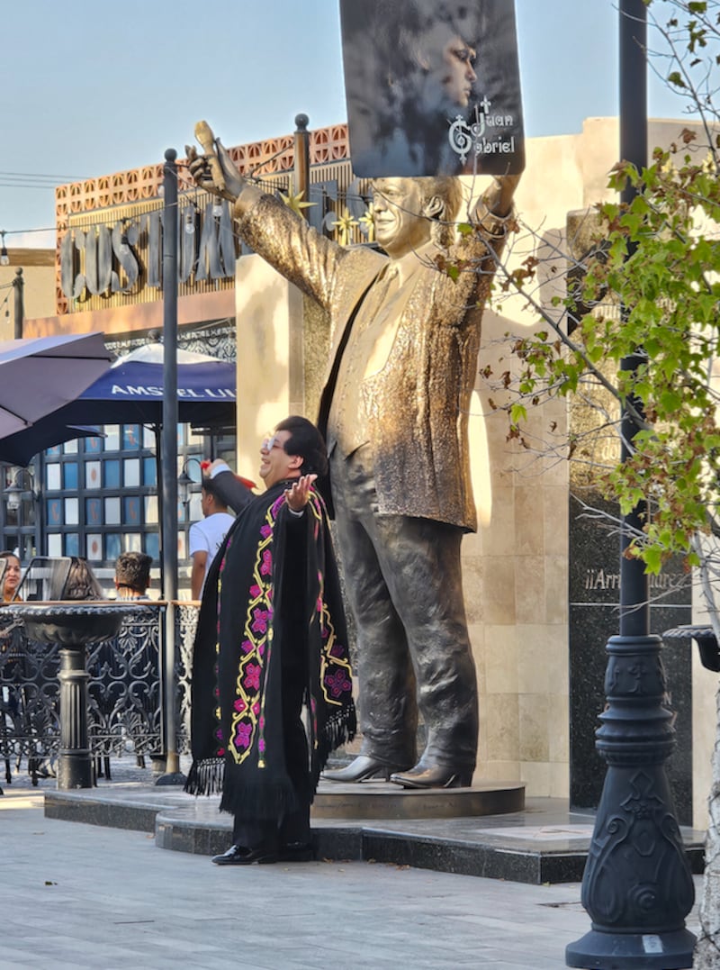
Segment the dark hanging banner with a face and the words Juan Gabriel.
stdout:
[[356,175],[522,171],[512,0],[340,0],[340,15]]

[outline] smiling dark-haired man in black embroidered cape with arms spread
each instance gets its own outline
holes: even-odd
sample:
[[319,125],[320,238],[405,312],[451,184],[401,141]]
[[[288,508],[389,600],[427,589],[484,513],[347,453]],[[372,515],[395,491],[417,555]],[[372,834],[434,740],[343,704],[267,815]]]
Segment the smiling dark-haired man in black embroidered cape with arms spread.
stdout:
[[[261,456],[266,493],[242,508],[210,567],[195,640],[186,791],[221,791],[220,811],[235,816],[218,865],[312,857],[320,772],[356,727],[328,518],[314,488],[327,472],[325,442],[289,417]],[[233,507],[243,486],[230,471],[214,481]]]

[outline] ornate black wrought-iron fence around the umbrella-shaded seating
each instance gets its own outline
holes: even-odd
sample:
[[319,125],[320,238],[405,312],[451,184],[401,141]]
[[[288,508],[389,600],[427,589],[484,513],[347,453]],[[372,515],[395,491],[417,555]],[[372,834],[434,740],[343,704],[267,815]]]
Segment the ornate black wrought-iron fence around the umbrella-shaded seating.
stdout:
[[[163,603],[136,606],[116,637],[87,648],[88,727],[96,759],[128,753],[144,758],[165,751],[165,615]],[[186,754],[197,607],[181,603],[175,617],[176,750]],[[8,781],[14,763],[26,760],[32,775],[57,756],[59,666],[59,647],[28,639],[22,625],[0,610],[0,760]]]

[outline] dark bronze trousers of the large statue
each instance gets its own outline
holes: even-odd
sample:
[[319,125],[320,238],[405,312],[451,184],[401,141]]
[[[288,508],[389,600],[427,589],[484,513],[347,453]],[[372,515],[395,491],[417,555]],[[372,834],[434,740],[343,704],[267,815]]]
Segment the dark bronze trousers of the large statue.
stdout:
[[358,631],[364,755],[424,766],[475,767],[478,690],[465,619],[462,532],[447,523],[379,515],[370,449],[330,459],[347,596]]

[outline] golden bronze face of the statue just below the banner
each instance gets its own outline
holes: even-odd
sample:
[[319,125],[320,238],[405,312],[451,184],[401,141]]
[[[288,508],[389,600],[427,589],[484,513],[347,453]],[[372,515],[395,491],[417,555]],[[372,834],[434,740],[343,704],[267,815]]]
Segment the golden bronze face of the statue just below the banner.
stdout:
[[430,238],[423,216],[423,194],[414,178],[377,178],[373,182],[375,239],[393,258],[418,249]]

